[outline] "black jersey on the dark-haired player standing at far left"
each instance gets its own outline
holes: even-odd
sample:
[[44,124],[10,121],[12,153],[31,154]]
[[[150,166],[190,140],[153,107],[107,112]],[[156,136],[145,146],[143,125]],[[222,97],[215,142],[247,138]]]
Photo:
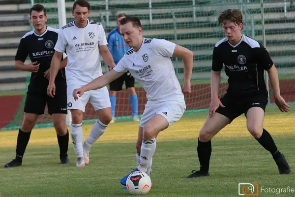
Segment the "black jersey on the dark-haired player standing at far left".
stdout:
[[[36,34],[34,31],[26,33],[18,46],[15,61],[25,62],[28,55],[31,62],[40,64],[38,72],[32,72],[32,79],[46,79],[44,72],[50,68],[51,60],[55,52],[54,46],[58,40],[59,30],[47,27],[42,34]],[[57,80],[65,80],[65,69],[59,69]]]

